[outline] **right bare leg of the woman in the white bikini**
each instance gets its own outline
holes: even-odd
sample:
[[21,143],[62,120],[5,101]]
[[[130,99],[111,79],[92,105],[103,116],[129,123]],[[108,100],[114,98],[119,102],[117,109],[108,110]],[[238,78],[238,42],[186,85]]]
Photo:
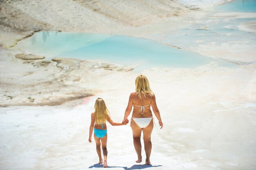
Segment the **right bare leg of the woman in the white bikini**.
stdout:
[[154,124],[153,119],[150,121],[149,125],[146,128],[143,128],[143,140],[144,140],[144,148],[146,152],[146,164],[150,165],[150,154],[152,149],[152,143],[151,143],[151,133],[153,130]]

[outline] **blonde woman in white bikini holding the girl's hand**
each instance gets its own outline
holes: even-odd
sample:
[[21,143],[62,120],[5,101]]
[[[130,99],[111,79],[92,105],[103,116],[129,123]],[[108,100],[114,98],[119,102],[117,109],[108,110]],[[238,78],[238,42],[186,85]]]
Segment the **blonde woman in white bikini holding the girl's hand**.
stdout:
[[131,119],[131,127],[132,127],[132,134],[133,134],[133,144],[138,155],[137,163],[142,161],[141,157],[141,142],[140,136],[141,131],[143,132],[143,140],[144,140],[144,148],[146,152],[146,164],[150,165],[150,154],[152,149],[151,144],[151,132],[153,130],[153,115],[150,110],[150,105],[155,113],[159,121],[159,125],[161,129],[163,128],[163,123],[161,120],[161,116],[159,110],[157,108],[157,103],[155,101],[155,95],[153,94],[152,90],[149,87],[149,82],[146,76],[140,75],[135,80],[135,90],[130,94],[128,106],[126,108],[124,114],[123,122],[128,121],[128,116],[132,110],[133,105],[133,112],[132,112],[132,119]]

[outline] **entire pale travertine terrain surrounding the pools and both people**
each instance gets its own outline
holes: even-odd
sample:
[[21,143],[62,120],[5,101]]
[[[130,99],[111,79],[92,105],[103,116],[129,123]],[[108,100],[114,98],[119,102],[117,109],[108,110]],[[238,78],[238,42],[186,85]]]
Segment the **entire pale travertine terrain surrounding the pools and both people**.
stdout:
[[[216,19],[207,18],[211,8],[193,10],[195,1],[181,2],[184,6],[171,0],[0,1],[0,169],[96,167],[95,143],[87,141],[94,101],[103,98],[112,119],[120,122],[138,74],[148,77],[164,123],[162,130],[158,125],[153,130],[151,169],[255,169],[255,41],[196,40],[190,47],[168,39],[189,26],[207,29]],[[230,20],[225,15],[220,20]],[[254,22],[234,27],[254,36]],[[211,63],[135,73],[98,60],[15,58],[26,51],[8,47],[39,30],[121,34],[172,46],[180,42],[177,47],[239,67]],[[136,168],[130,127],[108,125],[108,137],[111,169]]]

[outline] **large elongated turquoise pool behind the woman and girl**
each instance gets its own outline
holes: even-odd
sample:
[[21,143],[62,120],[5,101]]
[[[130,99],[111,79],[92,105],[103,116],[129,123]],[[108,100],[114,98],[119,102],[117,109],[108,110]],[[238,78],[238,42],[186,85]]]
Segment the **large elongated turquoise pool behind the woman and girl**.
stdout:
[[137,71],[150,67],[194,68],[212,61],[221,67],[235,67],[152,40],[119,35],[43,31],[23,40],[18,47],[48,58],[66,57],[137,65]]

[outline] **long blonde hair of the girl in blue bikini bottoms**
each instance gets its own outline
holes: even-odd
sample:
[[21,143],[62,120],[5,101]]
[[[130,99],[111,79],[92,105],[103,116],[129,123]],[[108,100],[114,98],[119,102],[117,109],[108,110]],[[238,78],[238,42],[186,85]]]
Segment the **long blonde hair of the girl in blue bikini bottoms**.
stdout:
[[97,98],[94,104],[94,121],[96,124],[106,123],[109,111],[102,98]]

